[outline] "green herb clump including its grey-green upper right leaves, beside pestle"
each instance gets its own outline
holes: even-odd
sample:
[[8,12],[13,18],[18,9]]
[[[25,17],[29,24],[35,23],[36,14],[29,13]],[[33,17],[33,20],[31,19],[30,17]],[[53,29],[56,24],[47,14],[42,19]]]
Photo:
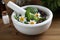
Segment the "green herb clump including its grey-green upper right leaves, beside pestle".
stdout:
[[30,20],[38,20],[37,17],[34,16],[35,13],[38,12],[38,9],[35,7],[27,7],[26,8],[26,13],[25,13],[25,17],[27,17],[27,21]]

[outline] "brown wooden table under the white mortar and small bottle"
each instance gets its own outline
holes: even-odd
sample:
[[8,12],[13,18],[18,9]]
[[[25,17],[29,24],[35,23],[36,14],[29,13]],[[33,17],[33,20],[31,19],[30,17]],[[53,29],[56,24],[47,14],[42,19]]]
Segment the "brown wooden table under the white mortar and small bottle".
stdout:
[[12,22],[4,25],[0,19],[0,40],[60,40],[60,19],[53,19],[51,27],[46,32],[34,36],[21,34]]

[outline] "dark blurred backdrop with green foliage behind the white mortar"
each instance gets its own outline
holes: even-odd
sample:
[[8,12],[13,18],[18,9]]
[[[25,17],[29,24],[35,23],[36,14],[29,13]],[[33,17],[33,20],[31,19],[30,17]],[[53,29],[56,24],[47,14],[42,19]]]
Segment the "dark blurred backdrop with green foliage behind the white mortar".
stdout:
[[6,6],[8,1],[13,1],[19,6],[42,5],[49,8],[53,12],[54,17],[60,17],[60,0],[0,0],[0,18],[4,10],[7,10],[9,15],[12,13],[12,10]]

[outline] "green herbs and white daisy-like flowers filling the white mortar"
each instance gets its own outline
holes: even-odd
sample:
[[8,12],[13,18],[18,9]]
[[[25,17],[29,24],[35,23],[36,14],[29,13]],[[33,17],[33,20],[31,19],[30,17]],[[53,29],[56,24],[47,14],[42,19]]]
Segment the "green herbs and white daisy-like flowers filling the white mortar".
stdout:
[[[44,17],[42,15],[45,14],[44,12],[39,12],[38,8],[36,7],[27,7],[26,9],[25,16],[22,16],[21,14],[18,16],[17,14],[14,16],[16,20],[18,20],[21,23],[24,24],[37,24],[41,23],[46,20],[46,16]],[[42,16],[41,16],[42,15]]]

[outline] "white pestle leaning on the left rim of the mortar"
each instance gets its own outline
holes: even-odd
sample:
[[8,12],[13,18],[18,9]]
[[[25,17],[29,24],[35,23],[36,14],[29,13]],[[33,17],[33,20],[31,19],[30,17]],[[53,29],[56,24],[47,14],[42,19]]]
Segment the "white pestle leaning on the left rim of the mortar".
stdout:
[[9,8],[11,8],[12,10],[14,10],[17,14],[21,14],[21,15],[25,15],[26,10],[24,10],[23,8],[19,7],[18,5],[16,5],[15,3],[9,1],[7,3],[7,6]]

